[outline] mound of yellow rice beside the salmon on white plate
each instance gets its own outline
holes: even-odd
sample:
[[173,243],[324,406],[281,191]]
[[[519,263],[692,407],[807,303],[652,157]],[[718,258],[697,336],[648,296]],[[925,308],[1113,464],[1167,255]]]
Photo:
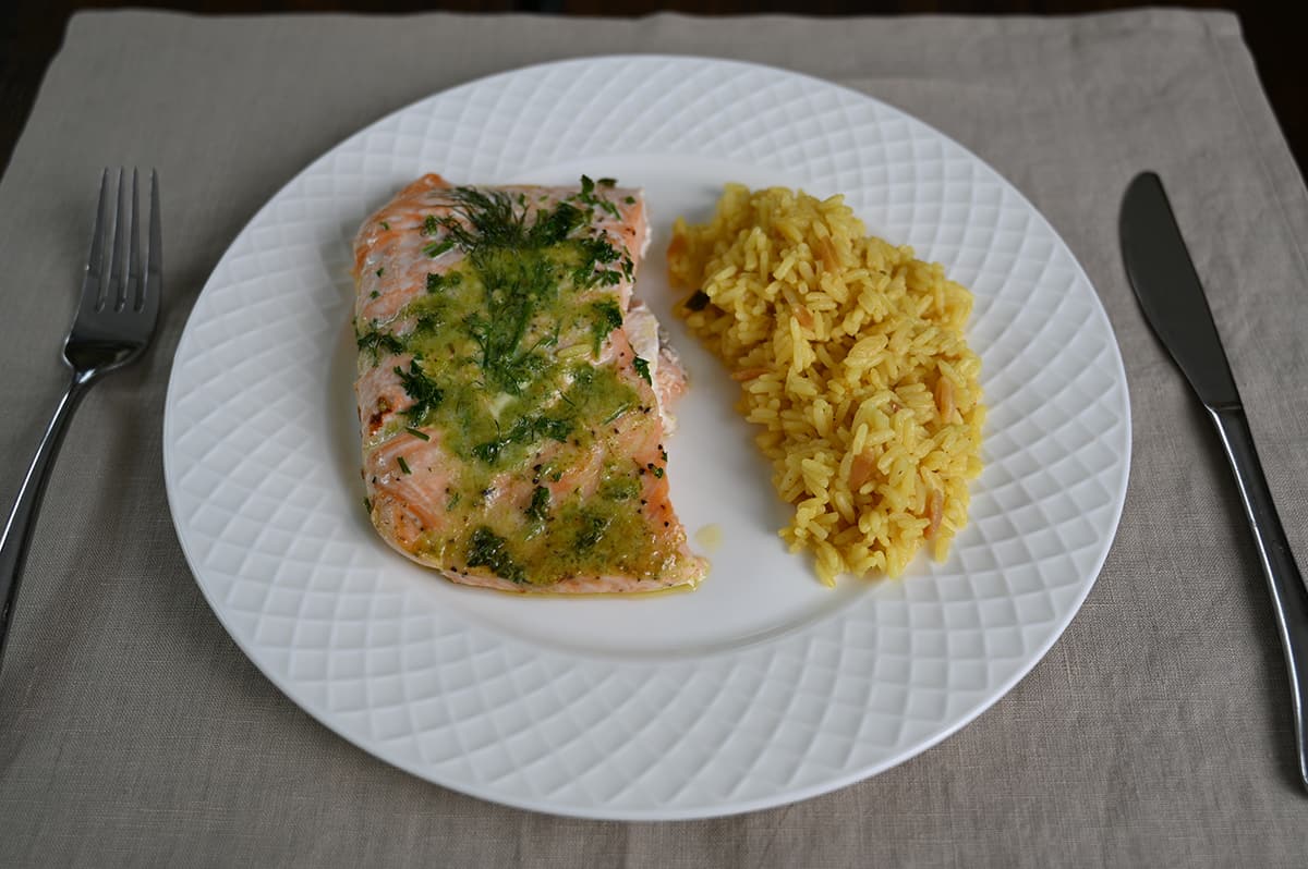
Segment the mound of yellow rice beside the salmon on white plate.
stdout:
[[[866,235],[841,196],[729,184],[706,225],[668,246],[679,306],[764,427],[781,531],[818,575],[899,576],[923,544],[944,559],[981,473],[972,294],[939,264]],[[702,307],[701,307],[702,306]],[[692,308],[700,307],[698,311]]]

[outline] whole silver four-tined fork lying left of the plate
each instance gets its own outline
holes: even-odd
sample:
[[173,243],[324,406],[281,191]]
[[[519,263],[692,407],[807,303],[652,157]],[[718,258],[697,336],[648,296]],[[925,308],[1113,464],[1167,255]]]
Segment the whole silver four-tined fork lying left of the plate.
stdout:
[[72,379],[41,438],[37,455],[18,489],[18,500],[0,536],[0,598],[4,600],[4,609],[0,609],[0,660],[41,497],[68,421],[92,384],[140,357],[154,335],[164,289],[158,172],[150,172],[150,226],[144,261],[139,214],[136,170],[132,170],[128,189],[126,170],[118,171],[115,183],[106,169],[99,183],[99,206],[81,302],[64,340],[64,362],[72,370]]

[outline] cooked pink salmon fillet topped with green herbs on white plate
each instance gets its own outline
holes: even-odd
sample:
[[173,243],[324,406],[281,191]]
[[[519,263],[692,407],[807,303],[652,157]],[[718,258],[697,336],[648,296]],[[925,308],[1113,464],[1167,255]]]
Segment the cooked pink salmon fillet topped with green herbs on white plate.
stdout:
[[685,388],[632,297],[640,191],[425,175],[354,240],[358,419],[373,524],[455,583],[693,585],[664,436]]

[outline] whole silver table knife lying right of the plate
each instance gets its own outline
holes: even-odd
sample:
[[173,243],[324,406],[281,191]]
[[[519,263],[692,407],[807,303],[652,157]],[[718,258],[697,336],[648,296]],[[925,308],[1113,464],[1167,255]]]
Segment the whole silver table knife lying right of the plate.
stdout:
[[1262,465],[1258,464],[1244,405],[1213,324],[1203,286],[1194,273],[1194,263],[1185,250],[1185,240],[1158,175],[1137,175],[1126,188],[1118,229],[1126,276],[1144,311],[1144,319],[1209,412],[1240,489],[1244,512],[1258,548],[1258,561],[1271,591],[1281,644],[1286,651],[1295,741],[1299,747],[1299,778],[1308,788],[1308,741],[1304,734],[1304,702],[1308,699],[1308,591],[1277,516]]

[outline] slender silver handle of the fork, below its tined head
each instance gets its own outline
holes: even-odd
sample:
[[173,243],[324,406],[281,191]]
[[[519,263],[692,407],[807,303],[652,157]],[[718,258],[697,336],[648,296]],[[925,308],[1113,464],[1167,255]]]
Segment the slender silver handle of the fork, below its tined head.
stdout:
[[59,446],[63,443],[68,421],[77,409],[77,404],[85,395],[90,376],[75,374],[64,391],[64,396],[55,408],[55,416],[46,426],[46,434],[41,438],[37,455],[31,457],[31,467],[18,489],[18,499],[9,512],[9,519],[4,525],[4,534],[0,536],[0,598],[4,600],[4,609],[0,609],[0,663],[4,661],[5,640],[9,636],[9,617],[13,615],[13,605],[18,597],[18,580],[22,578],[22,565],[27,557],[27,544],[31,542],[31,532],[37,527],[37,511],[41,508],[41,497],[46,493],[46,482],[50,480],[50,468],[59,455]]

